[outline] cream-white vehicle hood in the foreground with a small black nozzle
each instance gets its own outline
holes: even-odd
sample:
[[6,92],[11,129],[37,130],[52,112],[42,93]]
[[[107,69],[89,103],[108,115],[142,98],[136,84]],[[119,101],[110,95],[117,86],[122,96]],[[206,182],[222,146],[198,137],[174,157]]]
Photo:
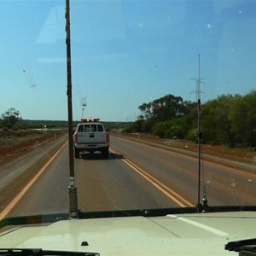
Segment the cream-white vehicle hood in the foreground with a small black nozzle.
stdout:
[[225,244],[253,238],[255,230],[256,212],[70,219],[15,226],[0,234],[0,247],[100,255],[234,255],[224,250]]

